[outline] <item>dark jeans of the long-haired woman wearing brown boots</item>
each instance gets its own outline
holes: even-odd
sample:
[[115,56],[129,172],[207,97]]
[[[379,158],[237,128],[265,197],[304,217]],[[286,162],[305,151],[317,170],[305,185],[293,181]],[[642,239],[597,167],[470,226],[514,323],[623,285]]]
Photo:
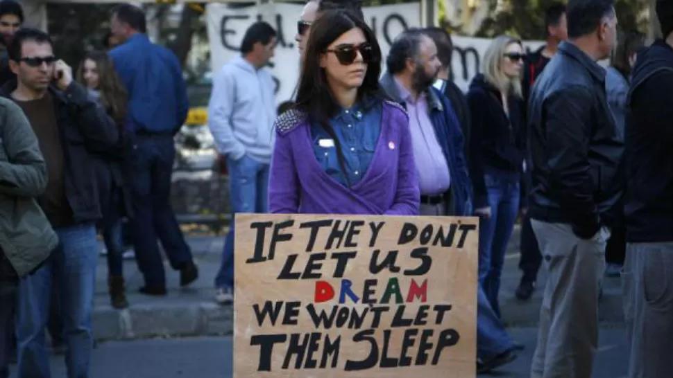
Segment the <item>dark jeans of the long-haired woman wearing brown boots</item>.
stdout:
[[109,203],[103,206],[103,219],[100,227],[108,249],[108,275],[123,275],[123,252],[124,244],[121,230],[123,222],[121,217],[122,192],[120,188],[110,190]]

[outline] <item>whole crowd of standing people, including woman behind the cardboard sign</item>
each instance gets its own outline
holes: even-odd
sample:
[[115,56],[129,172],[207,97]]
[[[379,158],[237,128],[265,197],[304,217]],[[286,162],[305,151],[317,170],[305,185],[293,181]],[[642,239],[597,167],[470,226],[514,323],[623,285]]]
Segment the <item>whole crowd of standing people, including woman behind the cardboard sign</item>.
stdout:
[[[291,102],[275,107],[265,67],[276,32],[264,21],[214,77],[207,119],[234,214],[479,217],[477,372],[524,348],[498,302],[520,218],[516,296],[531,297],[543,262],[549,271],[531,377],[590,377],[605,275],[624,285],[627,377],[673,375],[671,1],[657,1],[664,37],[648,47],[618,32],[612,0],[554,4],[545,46],[527,54],[495,37],[467,93],[442,28],[406,30],[383,56],[357,1],[309,0],[298,17]],[[123,219],[142,294],[167,294],[157,241],[181,285],[198,278],[169,206],[185,82],[135,6],[114,8],[109,51],[76,74],[22,21],[17,3],[0,2],[0,377],[12,348],[19,377],[49,377],[47,331],[69,377],[87,377],[96,228],[114,307],[129,305]],[[223,304],[235,300],[234,233],[214,282]]]

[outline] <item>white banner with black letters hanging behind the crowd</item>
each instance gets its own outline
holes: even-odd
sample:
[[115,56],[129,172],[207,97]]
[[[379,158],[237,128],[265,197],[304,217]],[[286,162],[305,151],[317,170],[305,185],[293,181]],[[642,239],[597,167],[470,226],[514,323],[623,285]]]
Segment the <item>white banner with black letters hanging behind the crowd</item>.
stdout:
[[[276,102],[290,100],[299,75],[299,51],[294,37],[302,8],[301,4],[290,3],[238,9],[229,8],[226,4],[208,5],[208,38],[213,73],[217,73],[223,64],[239,54],[241,39],[247,28],[257,19],[264,19],[278,32],[278,46],[271,66],[277,84]],[[399,33],[420,26],[420,3],[369,7],[364,8],[363,12],[381,45],[384,60]],[[451,65],[454,81],[466,90],[472,77],[479,72],[479,65],[491,39],[459,36],[453,36],[452,39],[455,47]],[[527,50],[534,51],[544,42],[527,41],[524,44]]]

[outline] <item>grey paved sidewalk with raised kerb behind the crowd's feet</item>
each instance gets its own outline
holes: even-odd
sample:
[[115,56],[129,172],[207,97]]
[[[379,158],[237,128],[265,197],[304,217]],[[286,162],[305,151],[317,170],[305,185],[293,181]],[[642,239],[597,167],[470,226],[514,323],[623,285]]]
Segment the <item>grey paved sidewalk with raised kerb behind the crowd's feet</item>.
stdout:
[[[107,262],[99,258],[96,279],[94,330],[96,339],[136,339],[151,336],[204,336],[231,334],[233,312],[230,306],[214,303],[213,279],[219,269],[223,236],[190,237],[191,249],[199,267],[199,278],[188,289],[180,289],[179,273],[169,265],[167,282],[169,295],[153,298],[137,294],[142,286],[142,276],[135,261],[124,262],[127,295],[130,307],[117,310],[110,307],[107,287]],[[521,302],[514,297],[520,279],[518,271],[518,229],[513,236],[502,273],[500,295],[504,321],[509,326],[535,327],[542,300],[545,272],[540,271],[538,289],[533,298]],[[101,248],[102,244],[101,244]],[[601,300],[600,317],[603,323],[619,324],[623,321],[620,279],[606,278]]]

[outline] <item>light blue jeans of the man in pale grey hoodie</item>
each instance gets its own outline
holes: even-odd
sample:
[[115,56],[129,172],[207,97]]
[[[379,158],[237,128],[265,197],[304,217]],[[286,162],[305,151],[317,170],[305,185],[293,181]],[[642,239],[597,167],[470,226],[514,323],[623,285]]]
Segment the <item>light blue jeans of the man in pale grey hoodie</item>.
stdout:
[[[227,158],[230,202],[236,213],[266,213],[269,208],[269,165],[249,156],[238,161]],[[222,263],[215,277],[217,289],[234,287],[234,219],[224,240]]]

